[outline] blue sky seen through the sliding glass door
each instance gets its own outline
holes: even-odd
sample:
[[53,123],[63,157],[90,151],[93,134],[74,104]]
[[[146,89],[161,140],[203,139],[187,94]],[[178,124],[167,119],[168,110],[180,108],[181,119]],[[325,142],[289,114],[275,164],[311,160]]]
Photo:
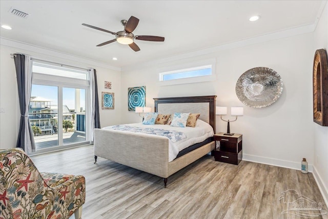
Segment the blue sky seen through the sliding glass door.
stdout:
[[[58,87],[46,85],[32,85],[31,96],[44,97],[51,100],[51,105],[58,105]],[[80,107],[86,109],[86,90],[80,89]],[[75,109],[75,89],[63,88],[63,105]]]

